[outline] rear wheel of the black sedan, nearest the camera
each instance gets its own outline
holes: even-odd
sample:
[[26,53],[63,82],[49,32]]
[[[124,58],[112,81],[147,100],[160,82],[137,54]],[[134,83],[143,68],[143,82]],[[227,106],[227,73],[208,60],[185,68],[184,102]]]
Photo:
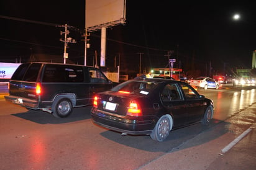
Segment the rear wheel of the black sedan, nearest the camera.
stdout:
[[172,120],[168,117],[168,115],[163,115],[155,124],[155,127],[150,134],[150,138],[155,141],[163,141],[165,140],[172,128]]

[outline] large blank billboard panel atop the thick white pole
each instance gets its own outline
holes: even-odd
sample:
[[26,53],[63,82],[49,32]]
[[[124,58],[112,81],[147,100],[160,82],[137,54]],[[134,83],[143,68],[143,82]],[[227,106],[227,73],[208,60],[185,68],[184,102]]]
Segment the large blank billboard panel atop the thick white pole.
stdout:
[[124,24],[126,0],[86,0],[85,18],[88,31]]

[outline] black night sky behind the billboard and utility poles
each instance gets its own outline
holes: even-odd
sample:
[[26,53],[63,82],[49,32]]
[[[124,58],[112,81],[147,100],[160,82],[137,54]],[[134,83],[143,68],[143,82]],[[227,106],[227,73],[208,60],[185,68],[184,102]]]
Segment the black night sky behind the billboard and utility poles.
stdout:
[[[166,55],[173,51],[170,58],[176,59],[175,67],[185,70],[204,73],[211,66],[212,72],[223,73],[224,68],[251,68],[256,2],[222,3],[127,0],[126,24],[107,29],[106,66],[114,66],[114,58],[118,63],[120,56],[121,69],[138,72],[139,53],[143,53],[142,69],[148,71],[165,67]],[[17,57],[23,61],[31,53],[63,56],[64,43],[59,39],[64,30],[54,25],[68,24],[79,29],[70,30],[77,40],[69,43],[70,60],[83,65],[84,1],[1,1],[0,12],[0,62]],[[235,13],[240,20],[232,19]],[[100,35],[96,31],[89,37],[88,65],[93,65],[95,51],[100,56]]]

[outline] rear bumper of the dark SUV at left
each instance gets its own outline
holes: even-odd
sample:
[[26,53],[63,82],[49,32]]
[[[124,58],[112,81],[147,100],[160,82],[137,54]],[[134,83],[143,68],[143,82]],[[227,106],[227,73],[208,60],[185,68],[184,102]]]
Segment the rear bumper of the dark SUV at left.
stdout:
[[39,102],[31,99],[26,99],[17,96],[4,96],[6,101],[12,102],[14,104],[19,104],[24,107],[29,107],[31,109],[39,109]]

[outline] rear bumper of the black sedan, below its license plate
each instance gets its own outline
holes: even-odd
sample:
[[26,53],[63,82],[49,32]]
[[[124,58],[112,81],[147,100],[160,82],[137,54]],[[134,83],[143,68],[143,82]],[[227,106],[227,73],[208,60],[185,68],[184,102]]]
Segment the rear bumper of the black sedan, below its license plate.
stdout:
[[91,118],[94,123],[101,127],[130,135],[150,135],[155,127],[153,120],[143,120],[141,117],[136,120],[129,119],[126,116],[109,115],[107,112],[95,109],[94,107],[91,109]]

